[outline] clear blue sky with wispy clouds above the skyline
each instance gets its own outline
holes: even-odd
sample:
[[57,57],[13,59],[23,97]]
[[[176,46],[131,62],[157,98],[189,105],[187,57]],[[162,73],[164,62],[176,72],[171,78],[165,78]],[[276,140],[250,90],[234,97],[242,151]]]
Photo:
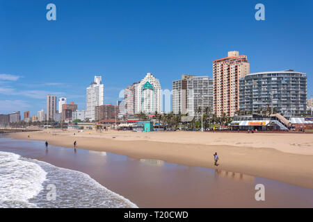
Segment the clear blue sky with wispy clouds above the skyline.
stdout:
[[[56,21],[46,6],[56,5]],[[265,21],[255,20],[255,5]],[[163,89],[182,74],[212,76],[212,61],[239,51],[250,72],[307,73],[313,94],[313,1],[0,0],[0,113],[45,109],[46,95],[86,106],[104,80],[106,103],[147,72]]]

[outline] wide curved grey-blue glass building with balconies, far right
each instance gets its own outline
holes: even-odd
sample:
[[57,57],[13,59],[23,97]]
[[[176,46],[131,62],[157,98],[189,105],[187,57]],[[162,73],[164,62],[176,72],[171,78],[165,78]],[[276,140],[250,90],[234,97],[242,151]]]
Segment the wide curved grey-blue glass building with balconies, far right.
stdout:
[[[294,70],[248,74],[239,80],[239,106],[246,112],[294,116],[306,112],[307,76]],[[274,111],[274,110],[273,110]]]

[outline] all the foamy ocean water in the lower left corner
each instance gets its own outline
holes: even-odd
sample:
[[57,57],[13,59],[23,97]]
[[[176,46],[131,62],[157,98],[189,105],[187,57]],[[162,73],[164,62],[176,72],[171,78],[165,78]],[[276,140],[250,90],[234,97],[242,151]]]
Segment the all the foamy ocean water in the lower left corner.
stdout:
[[86,173],[0,151],[0,207],[137,206]]

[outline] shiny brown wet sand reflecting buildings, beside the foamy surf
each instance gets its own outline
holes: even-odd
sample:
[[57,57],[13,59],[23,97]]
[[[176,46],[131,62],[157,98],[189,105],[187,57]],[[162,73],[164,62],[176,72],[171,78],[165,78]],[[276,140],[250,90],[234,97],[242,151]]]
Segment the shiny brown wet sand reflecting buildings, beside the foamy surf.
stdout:
[[[243,173],[145,160],[113,153],[0,139],[0,151],[88,173],[138,207],[313,207],[313,190]],[[266,200],[255,200],[264,184]]]

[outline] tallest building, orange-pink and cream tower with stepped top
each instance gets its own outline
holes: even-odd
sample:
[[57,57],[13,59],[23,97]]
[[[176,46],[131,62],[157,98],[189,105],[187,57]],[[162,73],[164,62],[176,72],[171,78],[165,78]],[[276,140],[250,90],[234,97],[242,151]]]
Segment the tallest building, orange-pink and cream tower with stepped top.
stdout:
[[239,109],[239,78],[249,72],[247,56],[239,56],[238,51],[213,61],[213,110],[218,117],[223,113],[233,117]]

